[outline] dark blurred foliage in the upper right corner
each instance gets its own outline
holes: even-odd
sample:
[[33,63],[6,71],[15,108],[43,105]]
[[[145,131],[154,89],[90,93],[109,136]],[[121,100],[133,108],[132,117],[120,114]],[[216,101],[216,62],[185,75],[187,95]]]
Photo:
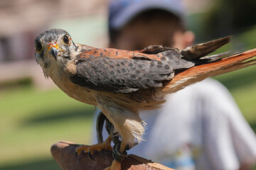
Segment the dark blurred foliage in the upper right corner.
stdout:
[[200,41],[237,35],[256,24],[256,1],[215,0],[210,10],[189,16],[188,25]]

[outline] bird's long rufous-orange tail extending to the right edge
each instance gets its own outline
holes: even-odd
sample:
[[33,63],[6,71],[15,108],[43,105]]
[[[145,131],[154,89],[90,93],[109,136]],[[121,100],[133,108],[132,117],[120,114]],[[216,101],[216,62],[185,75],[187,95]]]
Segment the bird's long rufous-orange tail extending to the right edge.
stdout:
[[224,57],[215,62],[191,67],[186,71],[176,74],[174,79],[164,86],[163,91],[165,94],[174,93],[190,84],[202,81],[208,77],[214,77],[244,67],[249,67],[256,64],[255,56],[256,48],[230,57]]

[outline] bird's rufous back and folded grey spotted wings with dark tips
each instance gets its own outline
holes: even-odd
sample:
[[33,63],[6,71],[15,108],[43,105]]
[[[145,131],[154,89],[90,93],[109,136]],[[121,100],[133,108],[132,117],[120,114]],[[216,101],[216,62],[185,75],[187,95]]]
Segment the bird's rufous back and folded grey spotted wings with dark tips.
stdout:
[[174,77],[174,73],[198,63],[212,62],[208,58],[201,60],[202,54],[212,52],[229,40],[213,40],[195,45],[191,50],[151,45],[141,51],[128,51],[82,45],[83,50],[75,60],[76,72],[70,78],[80,86],[117,93],[162,87]]

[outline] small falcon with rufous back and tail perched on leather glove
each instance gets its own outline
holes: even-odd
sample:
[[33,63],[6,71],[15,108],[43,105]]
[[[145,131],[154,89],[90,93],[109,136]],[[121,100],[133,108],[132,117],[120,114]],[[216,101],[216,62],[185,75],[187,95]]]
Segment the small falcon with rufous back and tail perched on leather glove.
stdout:
[[[256,64],[256,49],[210,55],[230,40],[228,36],[184,50],[150,45],[129,51],[75,43],[67,31],[53,28],[38,35],[34,47],[44,76],[71,98],[99,107],[114,127],[104,142],[78,147],[78,154],[112,150],[113,134],[121,137],[118,149],[123,153],[143,140],[146,125],[139,111],[161,107],[165,94]],[[114,159],[106,169],[119,170],[121,164]]]

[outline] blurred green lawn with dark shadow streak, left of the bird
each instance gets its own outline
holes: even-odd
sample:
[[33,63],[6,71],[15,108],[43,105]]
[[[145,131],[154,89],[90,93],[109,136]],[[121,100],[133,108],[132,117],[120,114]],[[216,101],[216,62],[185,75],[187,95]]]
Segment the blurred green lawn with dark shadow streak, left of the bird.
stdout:
[[59,140],[90,143],[93,111],[58,89],[1,91],[0,169],[38,169],[40,162],[55,167],[50,146]]

